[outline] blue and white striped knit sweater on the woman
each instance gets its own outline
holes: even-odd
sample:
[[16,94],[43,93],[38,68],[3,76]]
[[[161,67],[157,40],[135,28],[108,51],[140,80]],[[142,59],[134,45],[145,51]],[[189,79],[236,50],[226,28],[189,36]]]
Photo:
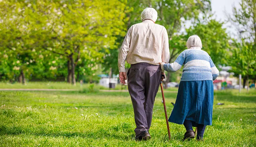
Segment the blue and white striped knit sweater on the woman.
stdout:
[[180,81],[214,81],[219,76],[219,70],[212,62],[209,54],[199,47],[191,47],[182,51],[173,63],[162,63],[161,68],[175,72],[184,65]]

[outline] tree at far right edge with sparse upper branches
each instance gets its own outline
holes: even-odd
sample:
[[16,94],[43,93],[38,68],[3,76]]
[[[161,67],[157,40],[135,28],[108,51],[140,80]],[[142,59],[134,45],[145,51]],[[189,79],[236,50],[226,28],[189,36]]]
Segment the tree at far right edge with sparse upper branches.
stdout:
[[[233,7],[233,14],[228,14],[232,26],[236,28],[235,36],[239,36],[240,43],[234,40],[234,48],[230,64],[235,75],[241,74],[244,78],[244,85],[249,79],[255,80],[255,56],[256,56],[256,1],[242,0],[241,8]],[[233,62],[234,60],[234,62]]]

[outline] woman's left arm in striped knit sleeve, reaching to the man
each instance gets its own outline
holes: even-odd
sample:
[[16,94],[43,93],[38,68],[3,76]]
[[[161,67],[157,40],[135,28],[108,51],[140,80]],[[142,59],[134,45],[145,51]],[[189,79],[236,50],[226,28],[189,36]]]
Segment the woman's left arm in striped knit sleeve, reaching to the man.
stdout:
[[161,68],[168,72],[175,72],[181,68],[185,61],[185,50],[182,51],[173,63],[161,63]]

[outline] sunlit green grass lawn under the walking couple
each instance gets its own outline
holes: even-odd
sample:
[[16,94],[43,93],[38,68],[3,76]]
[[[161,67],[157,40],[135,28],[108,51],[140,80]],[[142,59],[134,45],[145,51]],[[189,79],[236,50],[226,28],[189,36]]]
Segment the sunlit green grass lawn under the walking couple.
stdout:
[[[165,97],[169,115],[176,93]],[[161,101],[158,93],[152,139],[135,141],[129,93],[0,91],[0,146],[256,146],[255,90],[215,92],[213,125],[203,142],[182,141],[185,128],[173,123],[168,141]]]

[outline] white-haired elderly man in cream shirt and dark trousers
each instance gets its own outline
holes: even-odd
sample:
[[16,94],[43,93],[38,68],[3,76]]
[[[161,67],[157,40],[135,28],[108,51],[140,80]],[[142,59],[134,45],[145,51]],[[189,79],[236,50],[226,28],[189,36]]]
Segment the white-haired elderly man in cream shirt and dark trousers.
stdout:
[[[128,30],[118,55],[119,79],[125,84],[125,59],[131,68],[127,72],[128,90],[131,95],[136,123],[136,140],[151,136],[153,106],[161,82],[161,62],[169,62],[168,35],[164,26],[155,24],[157,11],[146,8],[141,13],[142,22]],[[162,79],[163,80],[163,79]]]

